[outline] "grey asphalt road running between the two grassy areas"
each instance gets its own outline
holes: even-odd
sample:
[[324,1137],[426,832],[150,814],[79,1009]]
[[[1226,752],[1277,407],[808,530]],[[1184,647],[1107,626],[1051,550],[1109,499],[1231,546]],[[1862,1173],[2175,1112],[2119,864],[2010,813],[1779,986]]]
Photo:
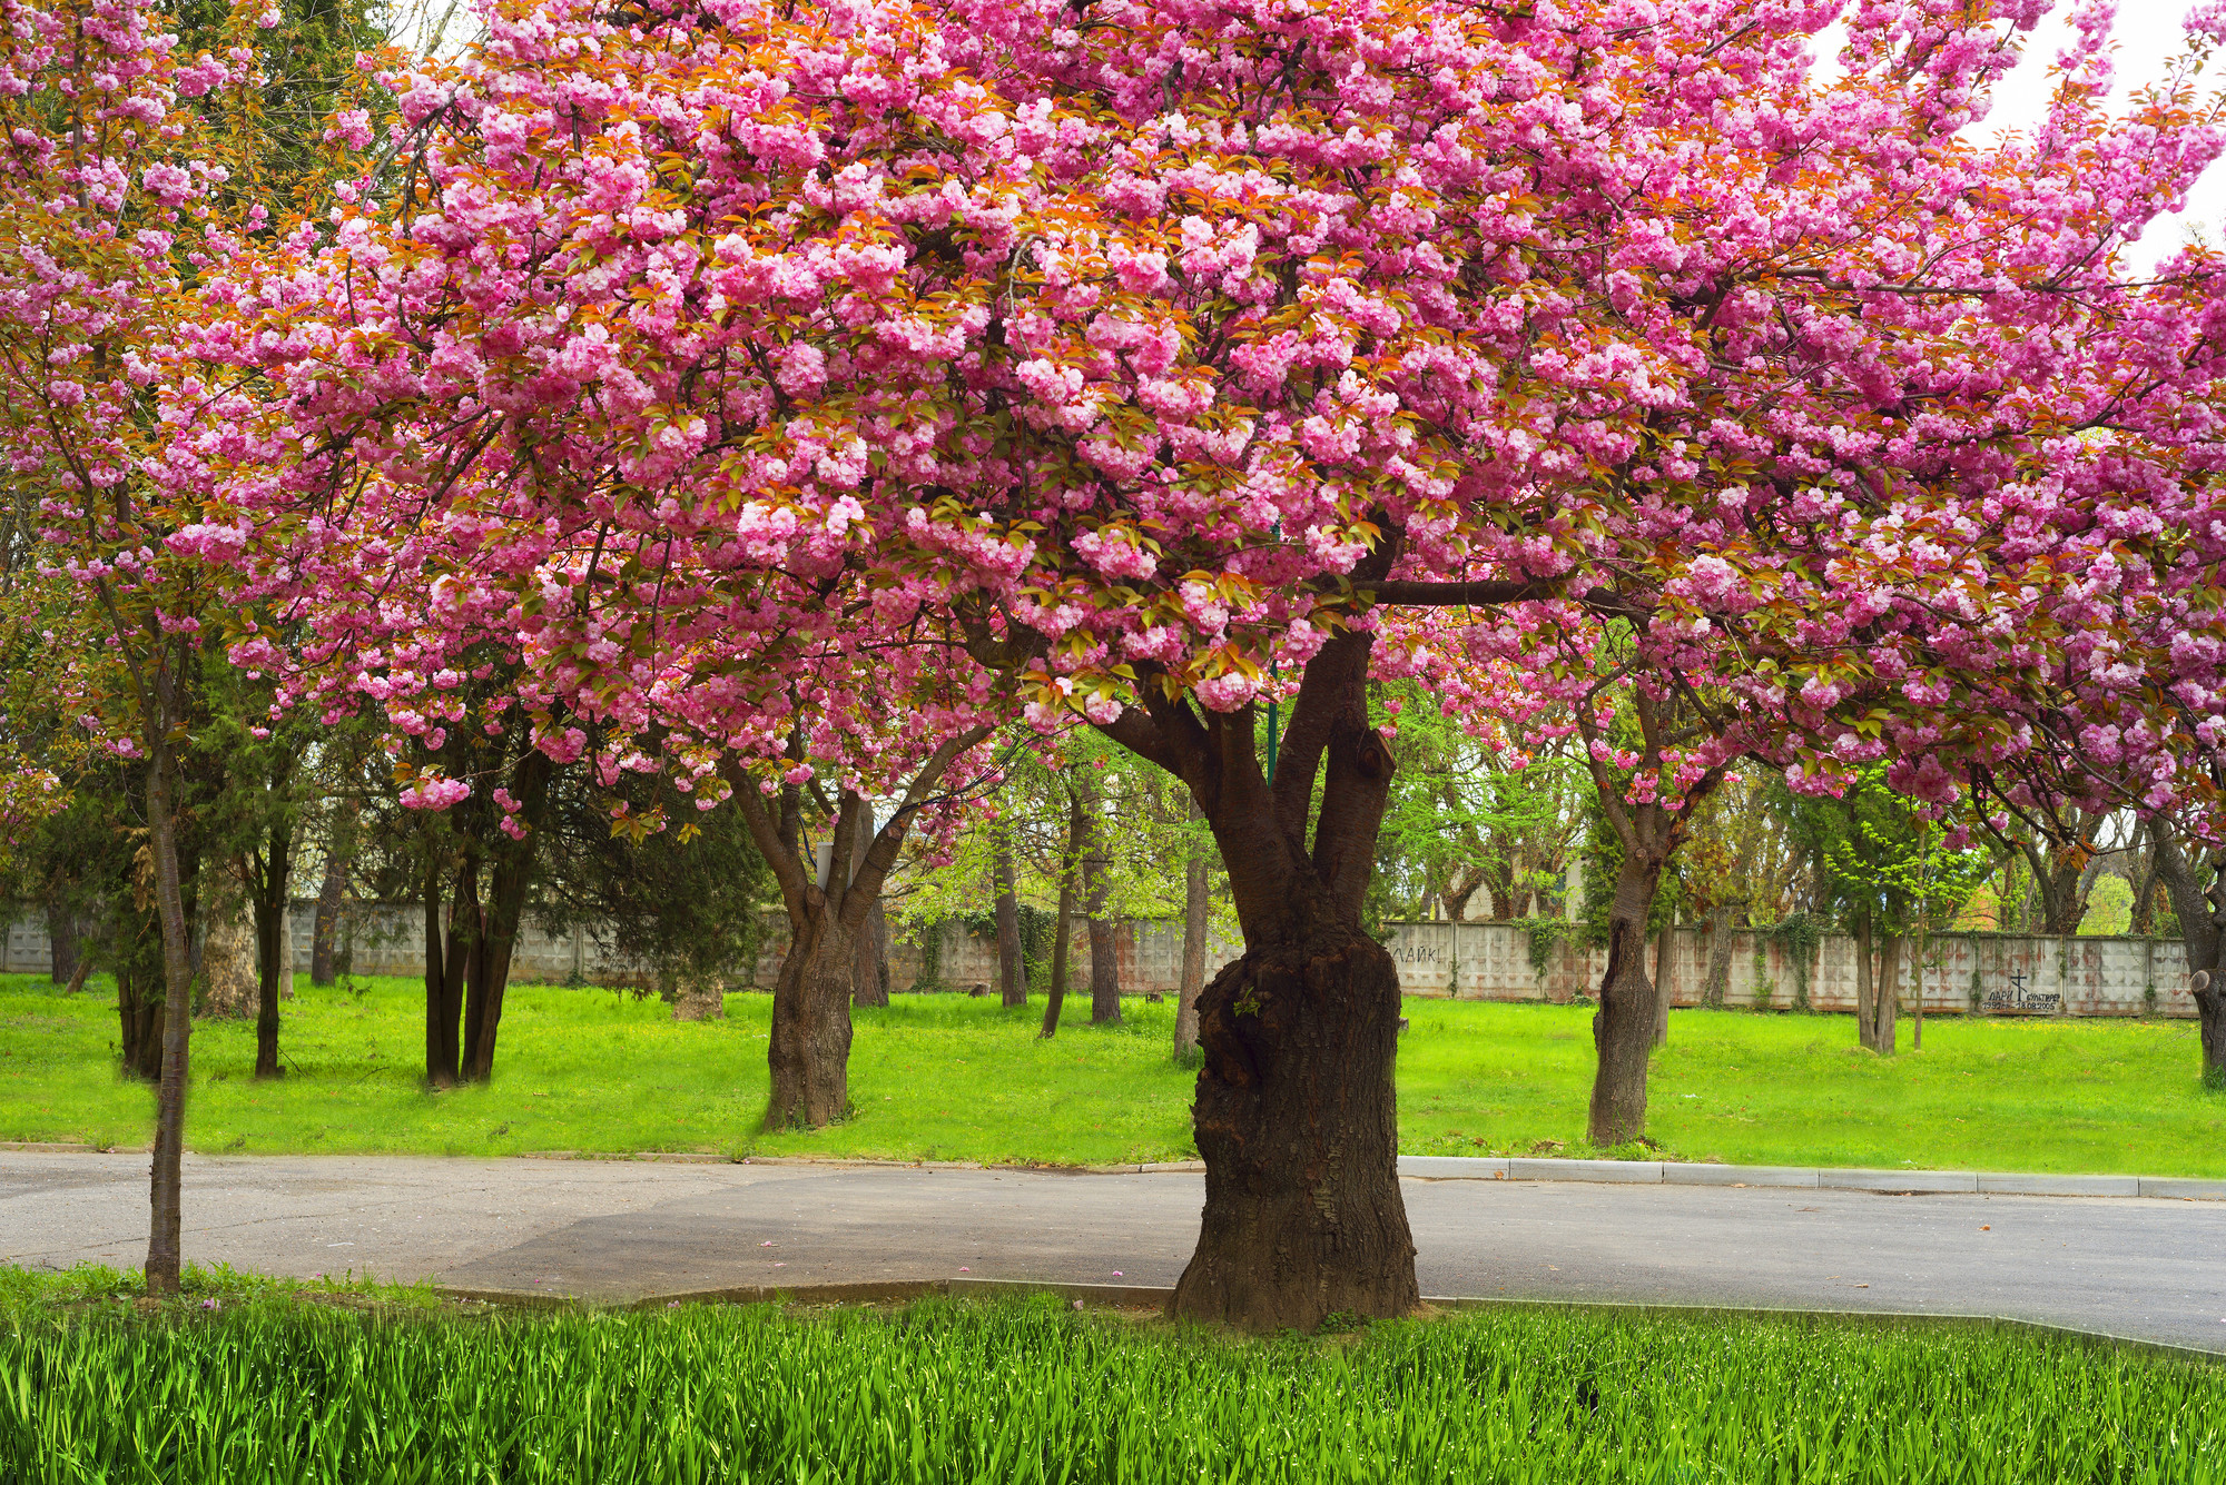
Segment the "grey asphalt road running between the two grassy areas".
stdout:
[[[1171,1285],[1204,1180],[833,1165],[189,1156],[185,1256],[594,1298]],[[2226,1352],[2226,1203],[1405,1180],[1422,1292],[1990,1314]],[[147,1158],[0,1154],[0,1260],[136,1265]]]

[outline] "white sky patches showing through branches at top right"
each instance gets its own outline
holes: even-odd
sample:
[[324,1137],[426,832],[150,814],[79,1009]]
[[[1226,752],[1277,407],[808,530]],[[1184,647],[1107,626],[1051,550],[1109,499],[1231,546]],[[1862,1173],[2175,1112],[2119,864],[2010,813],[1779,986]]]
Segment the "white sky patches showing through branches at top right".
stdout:
[[[2186,51],[2181,20],[2190,0],[2119,0],[2117,24],[2110,31],[2117,51],[2117,76],[2112,80],[2112,102],[2124,104],[2126,96],[2164,76],[2164,62]],[[1972,127],[1977,138],[1999,138],[2003,131],[2030,131],[2048,111],[2050,78],[2057,53],[2070,36],[2068,13],[2072,0],[2057,0],[2055,9],[2039,27],[2023,38],[2023,60],[1994,89],[1994,109]],[[1843,27],[1819,38],[1819,56],[1828,60],[1839,53]],[[2226,47],[2222,47],[2206,71],[2197,78],[2199,91],[2213,91],[2226,82]],[[2155,265],[2166,253],[2184,247],[2190,238],[2217,242],[2226,236],[2226,165],[2210,171],[2188,193],[2188,209],[2179,216],[2157,218],[2133,247],[2130,260],[2137,269]]]

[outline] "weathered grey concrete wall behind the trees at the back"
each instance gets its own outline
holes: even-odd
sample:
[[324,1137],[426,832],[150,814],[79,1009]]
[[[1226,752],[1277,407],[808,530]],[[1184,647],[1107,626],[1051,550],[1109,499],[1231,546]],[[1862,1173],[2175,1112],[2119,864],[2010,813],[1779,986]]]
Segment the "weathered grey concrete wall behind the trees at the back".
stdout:
[[[312,903],[294,907],[294,971],[309,971]],[[1552,1000],[1565,1005],[1594,994],[1607,971],[1607,951],[1583,943],[1549,945],[1545,967],[1531,963],[1531,934],[1511,923],[1391,923],[1389,949],[1398,960],[1400,987],[1409,996],[1458,1000]],[[933,956],[928,934],[935,936]],[[639,983],[641,965],[605,947],[592,929],[550,934],[528,918],[516,947],[519,983]],[[766,945],[750,976],[772,985],[786,947],[788,925],[766,918]],[[1803,976],[1787,947],[1770,934],[1730,931],[1730,980],[1725,1005],[1792,1009]],[[1089,974],[1084,923],[1073,923],[1075,969]],[[343,945],[354,974],[423,974],[425,916],[414,905],[358,903],[347,909]],[[1135,920],[1115,927],[1120,983],[1129,994],[1173,991],[1182,976],[1182,925]],[[1676,929],[1670,978],[1676,1005],[1701,1005],[1710,960],[1705,929]],[[1215,938],[1206,947],[1206,976],[1240,945]],[[1654,971],[1656,947],[1647,947]],[[1986,1011],[2023,1016],[2193,1016],[2186,949],[2177,938],[2039,938],[2021,934],[1934,934],[1923,974],[1903,951],[1901,1003],[1921,985],[1928,1014]],[[933,980],[924,983],[933,960]],[[9,914],[7,958],[0,971],[45,974],[49,967],[47,923],[36,914]],[[962,923],[944,923],[895,936],[890,945],[893,989],[995,987],[997,945]],[[1805,1005],[1819,1011],[1854,1009],[1854,940],[1825,934],[1805,976]]]

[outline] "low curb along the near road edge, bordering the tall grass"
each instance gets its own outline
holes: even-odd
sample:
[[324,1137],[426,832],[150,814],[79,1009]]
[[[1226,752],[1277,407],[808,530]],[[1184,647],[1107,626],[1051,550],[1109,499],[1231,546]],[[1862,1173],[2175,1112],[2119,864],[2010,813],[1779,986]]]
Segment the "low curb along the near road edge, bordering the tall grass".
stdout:
[[[510,1305],[516,1309],[570,1309],[594,1307],[608,1300],[579,1298],[568,1294],[545,1294],[534,1289],[459,1289],[432,1285],[434,1294],[481,1305]],[[1053,1294],[1073,1300],[1075,1309],[1158,1309],[1166,1312],[1175,1296],[1171,1285],[1068,1285],[1035,1278],[899,1278],[881,1283],[848,1285],[743,1285],[735,1289],[679,1289],[668,1294],[643,1294],[621,1300],[621,1309],[672,1309],[679,1305],[908,1305],[922,1298],[975,1296],[993,1298],[1002,1294]],[[1462,1294],[1425,1294],[1425,1312],[1462,1309],[1596,1309],[1632,1316],[1676,1316],[1676,1318],[1736,1318],[1736,1320],[1814,1320],[1828,1325],[1914,1325],[1954,1327],[1986,1325],[2012,1329],[2030,1336],[2055,1336],[2077,1341],[2108,1341],[2137,1352],[2150,1352],[2175,1361],[2195,1361],[2208,1367],[2226,1365],[2226,1352],[2210,1352],[2199,1345],[2173,1345],[2170,1341],[2144,1341],[2119,1336],[2108,1329],[2079,1329],[2077,1325],[2050,1325],[2048,1320],[2023,1320],[2006,1314],[1941,1314],[1932,1309],[1792,1309],[1774,1305],[1676,1305],[1676,1303],[1612,1303],[1612,1300],[1552,1300],[1552,1298],[1498,1298]]]

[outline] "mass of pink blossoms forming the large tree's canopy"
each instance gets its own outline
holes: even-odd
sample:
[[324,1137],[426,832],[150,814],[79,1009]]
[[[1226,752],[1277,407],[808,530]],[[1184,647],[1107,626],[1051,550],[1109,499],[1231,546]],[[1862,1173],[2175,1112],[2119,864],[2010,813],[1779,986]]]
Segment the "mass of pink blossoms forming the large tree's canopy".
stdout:
[[278,616],[236,656],[287,705],[706,803],[730,756],[902,791],[977,722],[1244,707],[1342,625],[1480,727],[1629,629],[1721,720],[1658,796],[1754,754],[2186,803],[2222,280],[2117,249],[2222,136],[2104,111],[2086,27],[2046,124],[1974,147],[2043,7],[1865,0],[1825,82],[1834,9],[505,0],[390,78],[401,200],[203,296],[169,551]]

